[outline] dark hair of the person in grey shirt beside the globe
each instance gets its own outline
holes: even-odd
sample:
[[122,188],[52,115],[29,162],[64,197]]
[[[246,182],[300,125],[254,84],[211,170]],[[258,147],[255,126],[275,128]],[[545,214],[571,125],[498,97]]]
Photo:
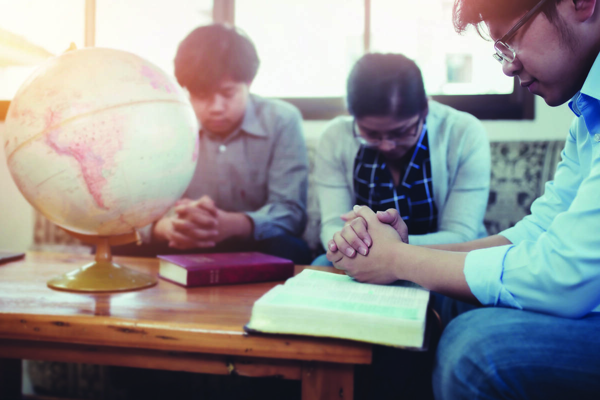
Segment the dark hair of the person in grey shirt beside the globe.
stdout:
[[258,68],[259,57],[250,38],[219,23],[191,31],[175,55],[177,82],[192,93],[211,91],[226,77],[252,82]]

